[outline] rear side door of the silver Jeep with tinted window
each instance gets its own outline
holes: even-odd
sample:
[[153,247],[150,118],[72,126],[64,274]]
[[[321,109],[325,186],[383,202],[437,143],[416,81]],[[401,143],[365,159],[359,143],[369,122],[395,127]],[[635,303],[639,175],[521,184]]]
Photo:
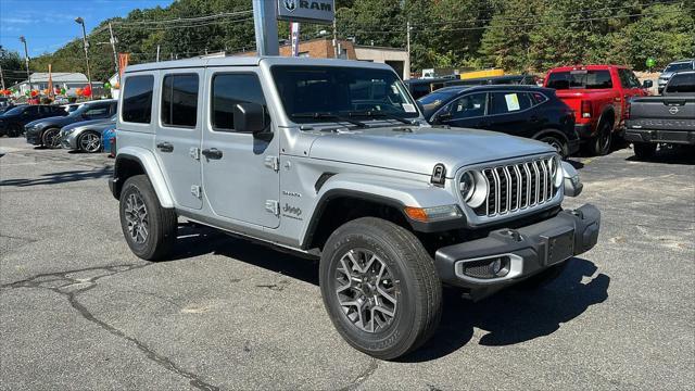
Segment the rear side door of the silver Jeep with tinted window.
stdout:
[[160,72],[155,153],[177,205],[201,209],[202,70]]

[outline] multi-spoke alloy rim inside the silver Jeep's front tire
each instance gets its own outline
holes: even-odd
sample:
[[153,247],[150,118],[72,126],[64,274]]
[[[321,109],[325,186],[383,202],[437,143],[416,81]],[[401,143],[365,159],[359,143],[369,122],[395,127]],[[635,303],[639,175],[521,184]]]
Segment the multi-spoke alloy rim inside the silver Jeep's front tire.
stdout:
[[399,285],[372,251],[352,249],[338,265],[336,294],[345,317],[359,330],[378,332],[395,316]]

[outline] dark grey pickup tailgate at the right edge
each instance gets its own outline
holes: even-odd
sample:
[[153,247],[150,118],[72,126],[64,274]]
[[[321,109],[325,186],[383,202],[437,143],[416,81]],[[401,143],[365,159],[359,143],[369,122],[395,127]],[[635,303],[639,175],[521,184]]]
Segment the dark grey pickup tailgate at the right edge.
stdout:
[[630,104],[628,128],[695,130],[695,97],[635,98]]

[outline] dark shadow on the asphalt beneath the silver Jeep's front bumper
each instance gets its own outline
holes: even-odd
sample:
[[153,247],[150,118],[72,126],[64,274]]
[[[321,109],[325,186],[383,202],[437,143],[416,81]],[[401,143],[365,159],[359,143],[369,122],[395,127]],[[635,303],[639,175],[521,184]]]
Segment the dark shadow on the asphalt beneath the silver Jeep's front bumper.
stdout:
[[[473,328],[486,333],[479,344],[504,346],[548,336],[581,315],[591,305],[608,298],[610,277],[583,258],[571,258],[564,273],[535,291],[514,288],[479,302],[445,290],[444,312],[434,337],[403,362],[426,362],[443,357],[470,342]],[[587,282],[585,279],[590,278]]]

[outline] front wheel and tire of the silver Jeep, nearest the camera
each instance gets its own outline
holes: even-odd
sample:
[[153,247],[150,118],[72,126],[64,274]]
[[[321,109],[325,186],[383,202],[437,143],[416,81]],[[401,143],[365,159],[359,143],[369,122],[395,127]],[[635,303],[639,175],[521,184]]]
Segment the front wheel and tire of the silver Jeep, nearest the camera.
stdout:
[[439,325],[434,263],[410,231],[391,222],[363,217],[338,228],[324,248],[319,281],[338,332],[377,358],[414,351]]

